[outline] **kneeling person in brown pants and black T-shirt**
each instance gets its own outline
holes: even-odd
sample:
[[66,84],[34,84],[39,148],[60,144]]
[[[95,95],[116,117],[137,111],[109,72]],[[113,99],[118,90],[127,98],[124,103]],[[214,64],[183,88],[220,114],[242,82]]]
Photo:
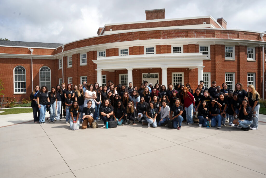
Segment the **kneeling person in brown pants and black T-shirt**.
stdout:
[[90,123],[90,127],[92,126],[92,122],[93,122],[93,115],[94,115],[94,108],[92,108],[92,101],[89,100],[88,101],[88,106],[83,108],[82,113],[83,113],[83,117],[82,117],[82,129],[86,129],[88,127],[88,123]]

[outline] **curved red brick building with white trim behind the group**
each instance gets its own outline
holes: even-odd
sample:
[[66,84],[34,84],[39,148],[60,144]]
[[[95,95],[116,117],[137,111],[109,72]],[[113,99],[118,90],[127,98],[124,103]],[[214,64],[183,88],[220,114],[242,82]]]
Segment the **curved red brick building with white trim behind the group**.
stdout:
[[106,24],[98,36],[65,44],[0,41],[5,97],[27,97],[35,85],[61,82],[112,80],[139,88],[147,80],[195,89],[202,79],[208,87],[213,80],[230,88],[253,84],[262,95],[266,33],[226,29],[223,18],[164,14],[165,9],[147,10],[145,21]]

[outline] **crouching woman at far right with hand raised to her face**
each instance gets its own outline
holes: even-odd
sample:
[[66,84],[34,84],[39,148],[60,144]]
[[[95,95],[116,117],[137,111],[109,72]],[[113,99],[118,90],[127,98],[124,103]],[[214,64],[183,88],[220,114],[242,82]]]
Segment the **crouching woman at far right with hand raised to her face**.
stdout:
[[250,125],[252,124],[252,108],[248,106],[248,101],[242,101],[242,108],[239,111],[239,120],[233,120],[233,124],[238,125],[244,131],[250,130]]

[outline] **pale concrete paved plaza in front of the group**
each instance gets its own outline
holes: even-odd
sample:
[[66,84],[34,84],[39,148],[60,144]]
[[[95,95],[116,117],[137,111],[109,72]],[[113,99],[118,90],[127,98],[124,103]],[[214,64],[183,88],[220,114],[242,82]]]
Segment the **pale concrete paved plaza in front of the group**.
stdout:
[[[49,116],[49,114],[47,114]],[[70,130],[0,116],[1,177],[266,177],[266,117],[242,131],[183,125]]]

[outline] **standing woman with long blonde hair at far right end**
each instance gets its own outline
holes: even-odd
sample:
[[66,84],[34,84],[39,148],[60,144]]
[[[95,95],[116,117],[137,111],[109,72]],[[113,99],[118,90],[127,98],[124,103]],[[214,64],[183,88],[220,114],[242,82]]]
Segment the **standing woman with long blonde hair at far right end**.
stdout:
[[248,105],[252,108],[252,119],[253,122],[250,125],[251,130],[257,130],[259,125],[259,112],[260,112],[260,104],[259,104],[260,94],[255,90],[254,85],[248,85],[248,93],[247,100]]

